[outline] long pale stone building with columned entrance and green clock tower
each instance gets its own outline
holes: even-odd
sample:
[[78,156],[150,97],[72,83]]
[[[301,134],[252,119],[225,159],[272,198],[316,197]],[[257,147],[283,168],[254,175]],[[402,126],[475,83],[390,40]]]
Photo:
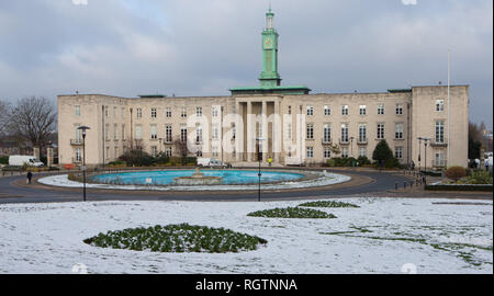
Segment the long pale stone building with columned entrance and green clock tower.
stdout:
[[385,139],[402,163],[467,167],[468,86],[318,94],[305,86],[282,86],[273,16],[267,13],[262,32],[258,87],[233,88],[228,96],[58,95],[59,162],[81,162],[77,127],[86,125],[89,164],[108,163],[136,147],[179,156],[177,140],[187,143],[191,155],[232,163],[372,159]]

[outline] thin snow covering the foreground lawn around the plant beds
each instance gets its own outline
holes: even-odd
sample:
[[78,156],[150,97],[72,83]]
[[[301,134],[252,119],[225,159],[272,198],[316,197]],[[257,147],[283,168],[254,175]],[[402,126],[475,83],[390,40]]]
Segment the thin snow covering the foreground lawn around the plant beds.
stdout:
[[[493,205],[346,198],[336,219],[248,217],[302,202],[88,202],[0,206],[0,273],[492,273]],[[456,203],[473,203],[454,200]],[[439,204],[437,204],[439,203]],[[259,236],[240,253],[158,253],[91,247],[127,227],[181,224]],[[81,265],[83,264],[83,265]],[[406,265],[407,264],[407,265]]]

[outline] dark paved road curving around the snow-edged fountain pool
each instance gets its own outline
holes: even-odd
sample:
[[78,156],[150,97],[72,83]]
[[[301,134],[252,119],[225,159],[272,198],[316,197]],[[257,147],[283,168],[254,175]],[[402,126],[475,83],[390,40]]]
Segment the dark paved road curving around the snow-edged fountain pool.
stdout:
[[[335,189],[314,189],[311,191],[284,191],[262,192],[263,201],[296,200],[316,196],[345,196],[355,194],[370,194],[394,189],[395,182],[403,184],[408,179],[393,173],[380,173],[372,171],[337,171],[353,175],[363,175],[374,180],[360,186],[345,186]],[[25,177],[0,178],[0,204],[7,203],[53,203],[53,202],[78,202],[82,200],[81,190],[44,190],[40,187],[27,187],[15,185],[15,182],[25,180]],[[154,193],[141,194],[133,192],[111,192],[104,190],[88,191],[88,201],[257,201],[257,193]]]

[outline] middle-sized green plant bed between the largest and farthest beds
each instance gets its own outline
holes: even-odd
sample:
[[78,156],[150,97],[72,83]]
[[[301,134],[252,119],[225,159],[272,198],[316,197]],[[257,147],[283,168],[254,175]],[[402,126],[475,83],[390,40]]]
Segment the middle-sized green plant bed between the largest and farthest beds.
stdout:
[[317,209],[301,208],[301,207],[265,209],[247,214],[247,216],[265,217],[265,218],[299,218],[299,219],[336,218],[336,216],[333,214],[327,214]]

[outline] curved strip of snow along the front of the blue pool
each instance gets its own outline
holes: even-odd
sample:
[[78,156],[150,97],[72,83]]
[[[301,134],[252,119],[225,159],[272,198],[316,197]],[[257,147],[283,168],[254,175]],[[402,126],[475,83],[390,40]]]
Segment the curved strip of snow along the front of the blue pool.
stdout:
[[[301,173],[304,173],[303,171]],[[329,173],[329,172],[307,172],[318,175],[315,179],[304,181],[288,181],[273,184],[262,184],[263,190],[288,190],[288,189],[304,189],[313,186],[327,186],[337,183],[343,183],[351,180],[351,177]],[[68,174],[58,174],[46,177],[37,180],[37,182],[61,187],[82,187],[81,182],[71,181],[68,179]],[[245,185],[194,185],[194,186],[154,186],[154,185],[110,185],[110,184],[86,184],[88,189],[112,189],[112,190],[156,190],[156,191],[245,191],[257,190],[257,184]]]

